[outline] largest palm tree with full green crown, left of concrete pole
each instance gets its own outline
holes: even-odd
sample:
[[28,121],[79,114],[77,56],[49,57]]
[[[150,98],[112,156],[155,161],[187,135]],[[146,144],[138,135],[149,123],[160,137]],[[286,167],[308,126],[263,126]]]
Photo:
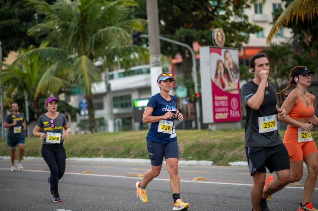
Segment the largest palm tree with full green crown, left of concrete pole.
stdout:
[[143,19],[128,19],[133,0],[58,0],[50,5],[43,0],[28,0],[46,19],[32,27],[28,34],[46,35],[52,47],[34,49],[19,59],[28,60],[38,54],[44,60],[57,62],[49,72],[67,69],[67,80],[86,93],[89,129],[95,132],[92,84],[101,81],[101,70],[94,61],[121,63],[126,67],[141,58],[148,59],[148,49],[132,46],[132,30],[142,31]]

